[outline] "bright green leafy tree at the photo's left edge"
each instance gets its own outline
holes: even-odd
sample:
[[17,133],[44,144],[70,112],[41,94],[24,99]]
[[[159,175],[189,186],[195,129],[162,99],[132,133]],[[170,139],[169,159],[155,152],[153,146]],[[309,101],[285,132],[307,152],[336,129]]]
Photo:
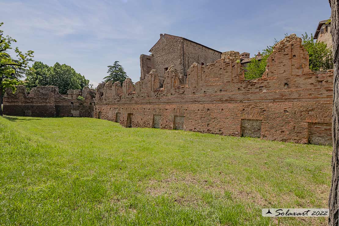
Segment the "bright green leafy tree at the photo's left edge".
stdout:
[[[0,23],[2,26],[3,23]],[[25,68],[29,61],[33,61],[33,51],[28,50],[27,53],[22,53],[18,47],[14,49],[16,58],[13,58],[9,53],[12,48],[12,43],[17,42],[10,36],[5,36],[3,30],[0,30],[0,115],[2,116],[2,96],[5,88],[12,88],[15,92],[15,85],[19,84],[19,78],[23,77]]]

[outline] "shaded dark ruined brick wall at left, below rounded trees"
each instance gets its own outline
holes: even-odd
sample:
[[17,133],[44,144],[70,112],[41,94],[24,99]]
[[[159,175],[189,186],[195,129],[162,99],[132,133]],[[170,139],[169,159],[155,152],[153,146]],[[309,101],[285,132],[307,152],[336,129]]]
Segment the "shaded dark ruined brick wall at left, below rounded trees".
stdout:
[[[83,96],[84,101],[77,100]],[[35,117],[93,117],[94,90],[68,90],[68,97],[59,94],[56,86],[37,86],[27,95],[24,86],[18,86],[13,94],[6,89],[3,98],[3,114]]]

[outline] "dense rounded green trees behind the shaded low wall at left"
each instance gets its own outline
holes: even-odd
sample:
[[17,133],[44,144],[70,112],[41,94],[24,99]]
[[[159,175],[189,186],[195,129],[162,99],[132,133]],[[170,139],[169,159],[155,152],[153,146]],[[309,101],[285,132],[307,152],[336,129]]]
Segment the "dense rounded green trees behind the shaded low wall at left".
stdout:
[[67,94],[67,90],[83,89],[88,83],[89,80],[77,73],[71,66],[58,62],[52,67],[36,61],[26,71],[27,91],[39,85],[53,85],[59,88],[60,94]]

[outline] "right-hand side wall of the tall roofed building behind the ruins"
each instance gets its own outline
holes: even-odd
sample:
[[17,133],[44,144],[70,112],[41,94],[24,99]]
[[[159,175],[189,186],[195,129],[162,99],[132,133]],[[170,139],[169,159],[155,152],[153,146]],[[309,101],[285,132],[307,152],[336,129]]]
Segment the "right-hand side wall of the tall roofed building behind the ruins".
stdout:
[[212,50],[186,39],[184,39],[183,42],[185,75],[187,75],[187,70],[193,63],[198,63],[200,65],[201,63],[204,63],[204,65],[206,65],[220,59],[220,52],[218,51]]

